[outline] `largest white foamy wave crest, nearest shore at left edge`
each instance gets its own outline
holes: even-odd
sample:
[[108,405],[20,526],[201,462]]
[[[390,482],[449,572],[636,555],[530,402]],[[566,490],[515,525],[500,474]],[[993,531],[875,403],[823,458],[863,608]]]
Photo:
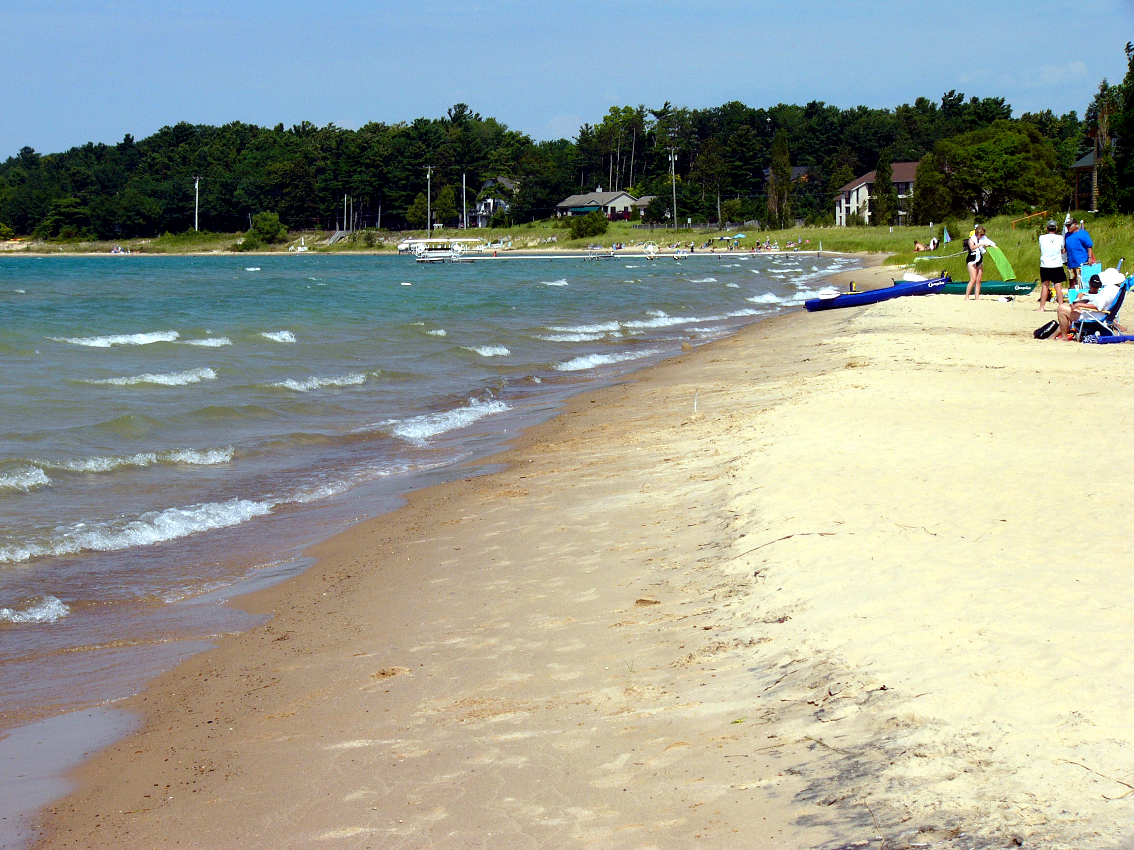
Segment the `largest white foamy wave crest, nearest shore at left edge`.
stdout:
[[150,511],[126,522],[77,522],[57,528],[40,541],[0,546],[0,563],[19,563],[44,555],[70,555],[78,552],[117,552],[133,546],[186,537],[191,534],[247,522],[254,517],[271,513],[279,504],[274,501],[230,499],[227,502],[204,502],[186,508]]

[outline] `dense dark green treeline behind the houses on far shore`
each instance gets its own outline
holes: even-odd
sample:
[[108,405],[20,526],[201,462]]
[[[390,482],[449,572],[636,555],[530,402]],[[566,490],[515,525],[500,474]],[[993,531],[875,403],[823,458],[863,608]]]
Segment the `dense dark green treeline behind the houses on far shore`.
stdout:
[[[885,176],[888,163],[915,160],[923,164],[908,212],[914,220],[941,220],[1067,206],[1069,167],[1095,138],[1103,143],[1105,211],[1128,211],[1129,45],[1127,61],[1123,83],[1105,80],[1082,119],[1050,110],[1014,119],[1002,97],[948,92],[940,102],[919,97],[896,109],[616,107],[576,139],[553,142],[534,142],[465,104],[443,118],[357,130],[178,124],[117,145],[88,143],[58,154],[24,147],[0,164],[0,230],[104,239],[181,232],[194,226],[196,177],[202,230],[246,230],[261,212],[278,213],[294,230],[331,229],[342,223],[344,197],[355,226],[398,229],[423,223],[430,165],[431,206],[437,219],[441,201],[446,224],[459,214],[463,179],[471,206],[498,177],[509,180],[484,190],[509,204],[497,223],[548,218],[567,195],[599,186],[659,196],[648,214],[665,220],[671,168],[680,220],[826,223],[839,187],[880,165]],[[892,220],[896,207],[882,198],[877,223]]]

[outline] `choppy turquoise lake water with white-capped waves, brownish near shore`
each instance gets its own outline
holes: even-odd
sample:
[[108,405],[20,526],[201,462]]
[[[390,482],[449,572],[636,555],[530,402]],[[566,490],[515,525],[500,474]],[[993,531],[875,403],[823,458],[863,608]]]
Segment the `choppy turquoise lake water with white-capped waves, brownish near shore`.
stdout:
[[225,587],[848,264],[5,257],[0,725],[130,692],[248,624]]

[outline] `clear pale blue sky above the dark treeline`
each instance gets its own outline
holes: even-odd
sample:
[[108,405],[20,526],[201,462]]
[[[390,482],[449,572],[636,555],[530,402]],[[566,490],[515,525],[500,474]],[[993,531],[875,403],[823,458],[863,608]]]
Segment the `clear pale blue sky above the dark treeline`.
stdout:
[[456,102],[535,138],[613,103],[894,107],[955,88],[1082,114],[1132,0],[0,0],[0,158],[186,120],[358,127]]

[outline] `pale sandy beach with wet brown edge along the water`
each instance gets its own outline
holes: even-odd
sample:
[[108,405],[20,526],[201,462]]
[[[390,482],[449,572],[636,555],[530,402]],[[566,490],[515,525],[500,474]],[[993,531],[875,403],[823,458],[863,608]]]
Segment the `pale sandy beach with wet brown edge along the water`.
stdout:
[[577,397],[242,597],[37,847],[1125,845],[1134,351],[1033,307],[792,314]]

